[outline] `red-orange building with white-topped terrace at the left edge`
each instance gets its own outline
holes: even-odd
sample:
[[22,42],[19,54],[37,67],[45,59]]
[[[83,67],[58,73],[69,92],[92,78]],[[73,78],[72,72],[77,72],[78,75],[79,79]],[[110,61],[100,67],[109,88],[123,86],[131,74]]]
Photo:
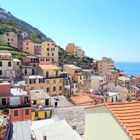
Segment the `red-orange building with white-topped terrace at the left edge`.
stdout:
[[10,83],[0,83],[0,107],[7,108],[11,122],[31,120],[30,96]]

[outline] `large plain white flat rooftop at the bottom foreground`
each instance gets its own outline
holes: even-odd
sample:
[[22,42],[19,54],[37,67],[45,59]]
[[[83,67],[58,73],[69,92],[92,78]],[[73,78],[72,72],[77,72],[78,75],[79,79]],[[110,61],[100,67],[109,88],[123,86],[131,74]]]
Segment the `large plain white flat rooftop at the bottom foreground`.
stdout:
[[65,120],[46,124],[32,131],[37,140],[43,140],[43,136],[47,136],[47,140],[81,140],[78,133]]

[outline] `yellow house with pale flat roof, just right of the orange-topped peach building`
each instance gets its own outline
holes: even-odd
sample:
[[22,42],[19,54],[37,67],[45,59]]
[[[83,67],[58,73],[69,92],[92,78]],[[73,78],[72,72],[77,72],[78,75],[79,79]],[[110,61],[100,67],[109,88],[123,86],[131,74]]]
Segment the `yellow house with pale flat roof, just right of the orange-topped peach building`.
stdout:
[[85,83],[86,74],[82,71],[82,68],[75,65],[64,65],[64,71],[73,76],[78,84],[83,85]]

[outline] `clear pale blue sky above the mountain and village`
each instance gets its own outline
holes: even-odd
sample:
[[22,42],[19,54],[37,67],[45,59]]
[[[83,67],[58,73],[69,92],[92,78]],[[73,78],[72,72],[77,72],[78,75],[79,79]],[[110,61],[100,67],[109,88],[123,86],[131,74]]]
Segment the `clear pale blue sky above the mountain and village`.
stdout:
[[139,0],[0,0],[2,8],[65,48],[95,59],[140,61]]

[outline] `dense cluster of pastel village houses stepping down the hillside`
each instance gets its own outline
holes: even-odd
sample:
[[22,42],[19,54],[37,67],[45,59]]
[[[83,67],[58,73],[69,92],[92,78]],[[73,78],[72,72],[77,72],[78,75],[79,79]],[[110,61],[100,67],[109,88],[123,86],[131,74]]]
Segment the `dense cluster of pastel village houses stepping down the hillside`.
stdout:
[[[60,67],[59,48],[53,41],[38,44],[26,32],[20,35],[7,32],[0,35],[0,43],[27,53],[20,60],[13,58],[10,51],[0,51],[0,128],[4,130],[0,139],[9,137],[10,123],[13,123],[13,130],[24,129],[30,139],[49,140],[49,136],[64,131],[66,137],[81,140],[81,136],[88,137],[84,135],[88,128],[85,128],[82,106],[139,99],[140,77],[128,77],[117,70],[111,58],[94,60],[92,69],[74,64]],[[66,51],[76,57],[85,56],[74,43],[69,43]],[[13,139],[17,137],[18,134],[12,135]]]

